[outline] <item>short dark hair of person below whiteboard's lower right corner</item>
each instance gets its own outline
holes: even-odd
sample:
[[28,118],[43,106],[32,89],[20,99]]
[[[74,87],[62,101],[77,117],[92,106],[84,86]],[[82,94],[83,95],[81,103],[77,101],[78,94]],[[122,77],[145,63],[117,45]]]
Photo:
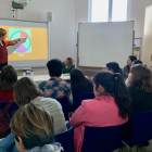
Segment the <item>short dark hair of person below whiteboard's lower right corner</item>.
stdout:
[[110,63],[106,64],[106,67],[109,69],[113,69],[114,73],[119,73],[123,76],[123,71],[121,69],[118,63],[110,62]]

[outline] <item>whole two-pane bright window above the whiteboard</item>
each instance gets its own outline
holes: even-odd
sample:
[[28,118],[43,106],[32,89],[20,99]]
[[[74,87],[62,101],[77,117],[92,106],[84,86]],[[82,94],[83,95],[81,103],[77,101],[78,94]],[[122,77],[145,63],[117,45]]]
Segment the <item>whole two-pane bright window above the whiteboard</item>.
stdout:
[[89,0],[89,22],[127,20],[128,0]]

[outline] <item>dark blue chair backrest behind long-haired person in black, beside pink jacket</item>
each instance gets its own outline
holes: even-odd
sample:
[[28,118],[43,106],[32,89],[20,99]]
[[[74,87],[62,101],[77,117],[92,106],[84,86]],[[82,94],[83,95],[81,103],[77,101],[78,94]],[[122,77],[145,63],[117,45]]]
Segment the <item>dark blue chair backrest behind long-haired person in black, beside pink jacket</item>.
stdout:
[[81,105],[81,101],[83,100],[93,99],[93,98],[94,98],[94,93],[93,92],[76,94],[75,96],[75,110],[77,110]]

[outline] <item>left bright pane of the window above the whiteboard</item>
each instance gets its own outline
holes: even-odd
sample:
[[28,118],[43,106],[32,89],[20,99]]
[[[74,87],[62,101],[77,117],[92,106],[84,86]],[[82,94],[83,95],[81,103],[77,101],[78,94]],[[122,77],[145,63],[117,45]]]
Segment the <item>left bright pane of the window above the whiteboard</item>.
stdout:
[[109,0],[92,0],[92,22],[109,21]]

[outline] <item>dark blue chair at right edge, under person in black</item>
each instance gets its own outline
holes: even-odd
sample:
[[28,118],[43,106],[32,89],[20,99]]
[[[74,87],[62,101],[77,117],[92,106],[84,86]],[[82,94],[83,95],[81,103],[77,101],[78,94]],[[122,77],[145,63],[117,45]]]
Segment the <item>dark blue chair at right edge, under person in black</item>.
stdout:
[[[152,139],[152,111],[134,113],[131,124],[131,140],[123,138],[129,147],[144,143]],[[137,147],[138,151],[138,147]]]

